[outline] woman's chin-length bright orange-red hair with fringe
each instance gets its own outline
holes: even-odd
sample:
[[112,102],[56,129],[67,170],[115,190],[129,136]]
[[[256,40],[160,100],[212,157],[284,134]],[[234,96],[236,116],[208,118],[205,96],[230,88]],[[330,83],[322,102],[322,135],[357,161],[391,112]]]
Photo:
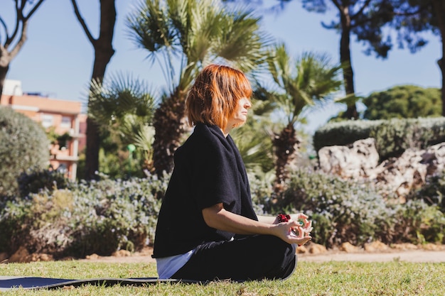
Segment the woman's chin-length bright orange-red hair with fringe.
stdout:
[[252,87],[243,72],[224,65],[208,65],[188,92],[188,123],[213,124],[224,129],[238,101],[251,96]]

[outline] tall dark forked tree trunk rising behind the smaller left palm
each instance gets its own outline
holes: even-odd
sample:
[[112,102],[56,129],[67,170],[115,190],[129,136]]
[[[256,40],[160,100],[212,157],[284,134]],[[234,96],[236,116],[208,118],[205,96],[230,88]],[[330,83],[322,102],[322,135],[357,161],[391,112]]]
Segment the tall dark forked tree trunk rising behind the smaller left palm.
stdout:
[[[115,0],[99,0],[100,1],[100,28],[99,36],[94,38],[90,29],[85,23],[84,18],[80,14],[76,0],[71,0],[73,4],[75,16],[82,26],[83,31],[87,35],[92,47],[95,50],[95,58],[92,66],[91,81],[101,82],[104,78],[107,65],[114,55],[112,45],[114,35],[114,24],[116,23],[116,5]],[[90,108],[90,106],[88,106]],[[96,172],[99,170],[99,149],[100,137],[99,126],[88,116],[87,118],[87,148],[85,160],[85,179],[95,179]]]

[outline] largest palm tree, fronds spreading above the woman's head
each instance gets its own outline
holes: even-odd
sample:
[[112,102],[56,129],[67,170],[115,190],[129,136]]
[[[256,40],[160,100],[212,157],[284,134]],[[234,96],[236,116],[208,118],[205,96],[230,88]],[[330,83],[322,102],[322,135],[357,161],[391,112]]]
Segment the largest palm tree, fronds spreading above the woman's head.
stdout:
[[166,79],[154,114],[154,166],[162,176],[173,169],[173,153],[186,131],[186,93],[195,75],[210,62],[253,70],[262,63],[267,38],[253,11],[229,11],[215,0],[146,0],[127,21],[136,45],[149,50]]

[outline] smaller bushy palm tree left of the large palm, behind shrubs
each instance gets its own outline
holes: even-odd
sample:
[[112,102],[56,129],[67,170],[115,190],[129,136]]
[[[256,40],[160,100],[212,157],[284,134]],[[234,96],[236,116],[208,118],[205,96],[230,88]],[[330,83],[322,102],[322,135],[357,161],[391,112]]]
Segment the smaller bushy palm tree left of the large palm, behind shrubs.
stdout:
[[143,150],[143,168],[151,172],[154,140],[151,123],[156,102],[153,91],[132,75],[118,74],[103,82],[92,80],[89,92],[92,119],[124,146],[132,144]]

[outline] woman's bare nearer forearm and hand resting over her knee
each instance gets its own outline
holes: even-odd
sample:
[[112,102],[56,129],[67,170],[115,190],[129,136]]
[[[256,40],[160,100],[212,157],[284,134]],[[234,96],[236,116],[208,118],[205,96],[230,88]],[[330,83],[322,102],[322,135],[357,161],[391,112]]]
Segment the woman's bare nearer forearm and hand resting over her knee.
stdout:
[[[223,204],[215,204],[213,207],[203,209],[203,218],[205,223],[215,229],[229,231],[234,234],[269,234],[278,236],[287,243],[298,243],[300,245],[311,239],[307,235],[297,221],[283,222],[279,224],[265,223],[264,221],[255,221],[228,212],[224,209]],[[271,221],[272,217],[267,217],[266,221]],[[275,218],[274,218],[275,219]],[[296,228],[299,232],[297,236],[292,231]]]

